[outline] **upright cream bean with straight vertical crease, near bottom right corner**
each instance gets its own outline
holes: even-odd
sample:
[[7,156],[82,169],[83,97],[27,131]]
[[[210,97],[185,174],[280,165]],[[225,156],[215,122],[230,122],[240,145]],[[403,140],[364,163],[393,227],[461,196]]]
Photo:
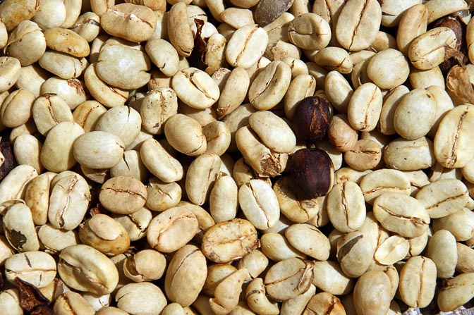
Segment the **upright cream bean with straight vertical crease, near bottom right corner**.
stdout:
[[410,307],[427,307],[435,296],[436,265],[423,256],[411,257],[400,271],[399,293]]

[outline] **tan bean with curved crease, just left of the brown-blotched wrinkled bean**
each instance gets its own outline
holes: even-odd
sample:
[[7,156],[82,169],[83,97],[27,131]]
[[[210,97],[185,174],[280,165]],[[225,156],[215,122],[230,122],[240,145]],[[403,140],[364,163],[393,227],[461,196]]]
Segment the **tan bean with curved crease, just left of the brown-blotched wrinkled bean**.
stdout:
[[175,206],[152,219],[147,229],[147,241],[159,252],[174,252],[186,245],[198,231],[193,212]]

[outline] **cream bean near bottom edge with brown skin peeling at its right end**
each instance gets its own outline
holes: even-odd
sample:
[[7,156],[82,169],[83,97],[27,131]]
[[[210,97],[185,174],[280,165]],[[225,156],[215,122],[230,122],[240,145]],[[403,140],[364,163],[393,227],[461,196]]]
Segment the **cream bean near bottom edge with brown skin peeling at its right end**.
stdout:
[[314,263],[300,258],[277,262],[265,275],[265,289],[272,299],[284,301],[309,290]]

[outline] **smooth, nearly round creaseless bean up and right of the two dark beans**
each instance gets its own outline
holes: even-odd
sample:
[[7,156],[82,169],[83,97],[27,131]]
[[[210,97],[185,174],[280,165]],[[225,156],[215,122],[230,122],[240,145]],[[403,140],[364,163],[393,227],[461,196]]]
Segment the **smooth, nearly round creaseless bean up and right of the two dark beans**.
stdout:
[[409,73],[408,61],[396,49],[379,51],[367,63],[367,76],[381,89],[398,87],[406,81]]

